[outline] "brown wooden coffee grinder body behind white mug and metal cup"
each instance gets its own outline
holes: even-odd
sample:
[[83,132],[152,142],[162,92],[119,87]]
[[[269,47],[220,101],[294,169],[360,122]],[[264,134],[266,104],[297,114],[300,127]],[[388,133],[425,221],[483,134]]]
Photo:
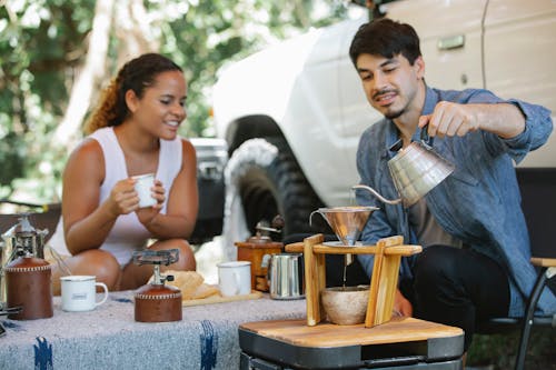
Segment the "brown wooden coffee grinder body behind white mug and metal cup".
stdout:
[[238,261],[251,262],[251,289],[268,291],[268,262],[271,254],[282,251],[282,243],[257,234],[245,242],[238,241],[235,244],[238,248]]

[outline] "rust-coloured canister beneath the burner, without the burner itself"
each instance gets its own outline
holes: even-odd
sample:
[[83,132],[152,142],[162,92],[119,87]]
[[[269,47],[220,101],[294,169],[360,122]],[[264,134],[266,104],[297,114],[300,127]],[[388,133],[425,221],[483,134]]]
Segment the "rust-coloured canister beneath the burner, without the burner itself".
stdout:
[[181,320],[181,291],[165,284],[146,284],[135,296],[136,321],[168,322]]

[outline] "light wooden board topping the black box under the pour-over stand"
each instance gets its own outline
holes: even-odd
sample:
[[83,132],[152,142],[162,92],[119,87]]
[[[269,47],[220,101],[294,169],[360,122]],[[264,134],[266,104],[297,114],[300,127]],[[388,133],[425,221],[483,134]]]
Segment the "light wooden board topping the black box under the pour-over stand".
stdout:
[[393,318],[373,328],[365,328],[363,323],[337,326],[326,322],[309,327],[306,320],[248,322],[240,328],[294,346],[311,348],[398,343],[464,334],[459,328],[414,318]]

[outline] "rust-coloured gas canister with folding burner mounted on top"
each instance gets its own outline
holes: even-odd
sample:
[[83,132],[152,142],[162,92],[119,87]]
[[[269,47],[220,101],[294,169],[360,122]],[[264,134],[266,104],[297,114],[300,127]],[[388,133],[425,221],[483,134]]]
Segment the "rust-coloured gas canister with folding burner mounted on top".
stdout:
[[140,287],[135,294],[135,319],[139,322],[168,322],[181,320],[181,291],[166,286],[173,276],[162,276],[160,264],[169,266],[178,261],[179,250],[142,250],[133,253],[133,263],[153,264],[155,278]]

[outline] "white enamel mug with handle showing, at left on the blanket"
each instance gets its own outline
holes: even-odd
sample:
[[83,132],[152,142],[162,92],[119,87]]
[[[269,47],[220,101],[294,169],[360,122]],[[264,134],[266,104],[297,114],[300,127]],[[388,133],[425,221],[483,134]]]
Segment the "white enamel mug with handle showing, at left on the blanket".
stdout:
[[[62,284],[63,311],[90,311],[108,299],[108,287],[97,282],[95,276],[67,276],[60,278]],[[97,287],[102,287],[105,297],[97,302]]]

